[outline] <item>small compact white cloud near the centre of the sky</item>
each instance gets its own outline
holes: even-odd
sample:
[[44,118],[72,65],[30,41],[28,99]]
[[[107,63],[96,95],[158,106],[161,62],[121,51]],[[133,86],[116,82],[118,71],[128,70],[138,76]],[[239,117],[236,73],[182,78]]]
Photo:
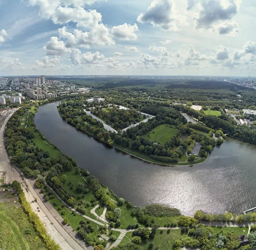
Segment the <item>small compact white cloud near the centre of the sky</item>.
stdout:
[[139,31],[139,28],[136,23],[134,25],[125,23],[123,25],[113,26],[111,35],[120,41],[131,41],[137,39],[137,34],[134,33],[137,31]]

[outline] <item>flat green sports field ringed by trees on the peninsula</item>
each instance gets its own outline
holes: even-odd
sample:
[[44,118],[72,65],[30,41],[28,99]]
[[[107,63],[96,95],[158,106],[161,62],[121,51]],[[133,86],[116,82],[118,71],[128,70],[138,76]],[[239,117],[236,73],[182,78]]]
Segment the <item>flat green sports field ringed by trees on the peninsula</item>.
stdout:
[[175,129],[173,126],[169,124],[162,124],[151,130],[149,133],[149,138],[152,141],[157,141],[164,144],[166,141],[169,141],[177,132],[178,129]]

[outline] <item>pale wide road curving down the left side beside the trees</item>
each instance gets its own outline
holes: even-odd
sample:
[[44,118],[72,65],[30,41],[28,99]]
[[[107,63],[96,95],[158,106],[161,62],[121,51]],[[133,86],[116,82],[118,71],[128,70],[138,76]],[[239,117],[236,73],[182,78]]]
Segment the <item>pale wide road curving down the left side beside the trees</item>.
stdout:
[[[79,244],[76,243],[75,240],[71,238],[71,236],[63,229],[63,227],[61,227],[58,221],[56,221],[56,219],[51,215],[49,210],[47,210],[47,207],[45,207],[44,203],[35,193],[35,190],[32,188],[26,177],[11,165],[6,149],[4,147],[3,131],[6,127],[7,121],[9,118],[11,118],[12,114],[6,118],[6,121],[0,130],[0,171],[6,172],[6,183],[11,183],[15,180],[21,183],[21,187],[25,193],[27,201],[29,201],[32,207],[32,210],[37,213],[41,221],[44,223],[47,232],[52,237],[52,239],[60,245],[61,249],[83,250],[84,248],[82,248]],[[24,177],[25,181],[27,180],[26,184],[23,181],[22,176]],[[37,202],[35,202],[35,198],[37,199]]]

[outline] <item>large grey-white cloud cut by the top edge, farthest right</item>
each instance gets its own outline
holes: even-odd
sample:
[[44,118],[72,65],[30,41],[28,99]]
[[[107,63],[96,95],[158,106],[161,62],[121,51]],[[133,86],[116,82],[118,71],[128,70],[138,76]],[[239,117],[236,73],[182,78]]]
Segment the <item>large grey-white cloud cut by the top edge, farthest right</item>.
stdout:
[[241,0],[187,0],[187,10],[195,11],[197,29],[217,29],[219,34],[239,34],[235,21],[228,22],[238,13]]

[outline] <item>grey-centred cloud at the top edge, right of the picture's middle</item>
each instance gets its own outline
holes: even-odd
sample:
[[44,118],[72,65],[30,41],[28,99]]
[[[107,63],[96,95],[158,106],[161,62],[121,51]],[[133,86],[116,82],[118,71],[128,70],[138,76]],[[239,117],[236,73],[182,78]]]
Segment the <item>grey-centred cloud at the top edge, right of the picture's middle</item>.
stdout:
[[147,11],[137,17],[140,23],[151,23],[166,31],[177,31],[186,24],[186,17],[178,14],[174,0],[153,0]]

